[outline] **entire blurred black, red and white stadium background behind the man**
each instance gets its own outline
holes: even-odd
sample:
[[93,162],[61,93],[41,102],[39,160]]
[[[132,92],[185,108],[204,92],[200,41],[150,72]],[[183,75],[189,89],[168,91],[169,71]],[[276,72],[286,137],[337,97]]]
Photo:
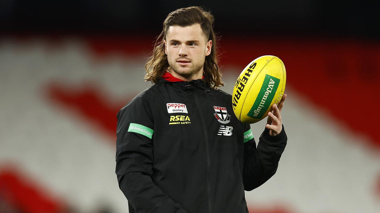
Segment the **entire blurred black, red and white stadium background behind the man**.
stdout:
[[250,212],[380,212],[378,2],[2,0],[1,213],[128,212],[116,113],[150,86],[166,15],[192,5],[215,16],[222,90],[259,56],[287,68],[288,145]]

